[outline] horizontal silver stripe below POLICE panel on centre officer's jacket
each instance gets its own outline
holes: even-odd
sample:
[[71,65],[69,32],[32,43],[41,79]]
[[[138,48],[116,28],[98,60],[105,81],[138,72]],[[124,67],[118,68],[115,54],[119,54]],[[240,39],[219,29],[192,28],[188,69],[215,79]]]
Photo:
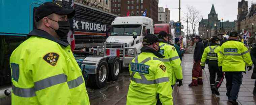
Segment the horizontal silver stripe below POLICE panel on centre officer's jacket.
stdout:
[[169,82],[169,77],[162,77],[162,78],[158,78],[158,79],[155,79],[155,80],[147,80],[145,78],[145,76],[144,76],[145,79],[143,79],[143,77],[141,77],[141,78],[142,79],[132,77],[131,80],[136,82],[136,83],[141,83],[141,84],[158,84],[158,83],[162,83],[162,82]]

